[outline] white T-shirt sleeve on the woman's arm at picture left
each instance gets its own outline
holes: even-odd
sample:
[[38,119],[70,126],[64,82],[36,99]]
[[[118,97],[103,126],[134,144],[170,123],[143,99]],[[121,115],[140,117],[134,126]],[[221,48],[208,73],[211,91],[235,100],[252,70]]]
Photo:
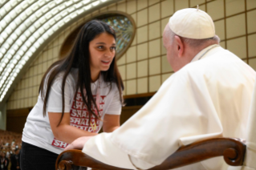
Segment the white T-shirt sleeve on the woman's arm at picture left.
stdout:
[[[51,91],[49,93],[48,102],[47,102],[47,111],[50,112],[62,112],[63,111],[63,95],[62,95],[62,81],[63,79],[59,76],[54,80],[51,85]],[[72,88],[69,78],[66,79],[65,84],[65,107],[64,112],[69,112],[71,109],[71,102],[73,99]]]

